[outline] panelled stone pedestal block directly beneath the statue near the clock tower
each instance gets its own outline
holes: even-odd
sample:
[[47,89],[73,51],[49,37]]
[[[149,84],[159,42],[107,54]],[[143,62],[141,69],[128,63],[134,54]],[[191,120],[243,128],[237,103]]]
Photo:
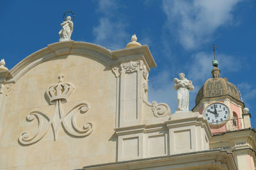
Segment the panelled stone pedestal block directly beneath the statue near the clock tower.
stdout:
[[165,124],[169,129],[170,155],[209,150],[211,129],[198,112],[175,112]]

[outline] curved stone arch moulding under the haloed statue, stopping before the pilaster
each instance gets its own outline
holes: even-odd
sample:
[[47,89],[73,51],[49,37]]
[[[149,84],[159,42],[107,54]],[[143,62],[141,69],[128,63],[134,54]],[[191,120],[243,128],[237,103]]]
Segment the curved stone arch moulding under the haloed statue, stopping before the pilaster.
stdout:
[[15,82],[19,80],[22,75],[42,62],[54,58],[58,59],[58,57],[67,57],[68,55],[88,56],[99,60],[104,66],[113,64],[111,51],[103,46],[85,42],[62,41],[52,43],[20,61],[19,64],[10,70],[8,81]]

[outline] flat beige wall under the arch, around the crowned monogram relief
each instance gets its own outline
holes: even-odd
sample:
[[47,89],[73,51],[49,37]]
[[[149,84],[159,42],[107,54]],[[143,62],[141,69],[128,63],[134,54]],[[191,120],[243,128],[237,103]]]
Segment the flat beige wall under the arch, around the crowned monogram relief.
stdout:
[[[65,75],[64,82],[76,87],[68,102],[62,104],[63,111],[66,113],[82,101],[90,104],[86,113],[77,114],[76,123],[82,128],[84,123],[91,122],[92,133],[75,138],[60,127],[54,141],[50,128],[37,143],[20,145],[18,138],[22,132],[33,135],[38,128],[36,119],[26,121],[31,111],[52,115],[54,105],[49,105],[45,90],[58,83],[60,73]],[[0,134],[0,169],[77,169],[115,162],[115,112],[116,77],[111,69],[79,55],[63,55],[42,62],[24,74],[6,96]]]

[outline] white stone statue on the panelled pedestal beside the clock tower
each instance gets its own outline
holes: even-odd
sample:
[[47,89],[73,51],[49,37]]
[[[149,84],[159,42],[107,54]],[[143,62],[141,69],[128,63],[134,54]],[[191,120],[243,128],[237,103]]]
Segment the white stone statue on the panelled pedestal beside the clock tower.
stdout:
[[174,78],[174,89],[177,90],[177,110],[176,111],[189,111],[189,91],[193,90],[194,86],[192,85],[192,81],[189,81],[185,78],[184,73],[180,73],[180,80],[178,78]]

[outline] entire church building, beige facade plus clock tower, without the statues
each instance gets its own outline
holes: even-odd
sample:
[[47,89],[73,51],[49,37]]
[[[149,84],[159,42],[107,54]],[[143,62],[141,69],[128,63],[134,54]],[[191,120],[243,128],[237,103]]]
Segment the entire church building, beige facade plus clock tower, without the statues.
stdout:
[[193,111],[171,114],[148,102],[156,62],[135,35],[120,50],[66,39],[0,65],[0,169],[255,169],[250,113],[217,66]]

